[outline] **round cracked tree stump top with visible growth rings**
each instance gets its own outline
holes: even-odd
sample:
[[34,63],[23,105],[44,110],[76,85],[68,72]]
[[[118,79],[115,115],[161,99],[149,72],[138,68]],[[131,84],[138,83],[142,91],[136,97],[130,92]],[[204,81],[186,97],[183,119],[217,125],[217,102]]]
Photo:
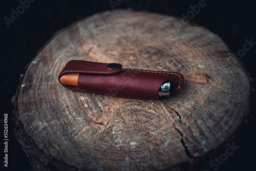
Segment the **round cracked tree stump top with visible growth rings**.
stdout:
[[[180,72],[184,89],[163,100],[71,91],[57,77],[73,59]],[[28,65],[12,99],[14,133],[38,170],[196,169],[243,125],[249,80],[207,29],[146,12],[95,14],[56,33]]]

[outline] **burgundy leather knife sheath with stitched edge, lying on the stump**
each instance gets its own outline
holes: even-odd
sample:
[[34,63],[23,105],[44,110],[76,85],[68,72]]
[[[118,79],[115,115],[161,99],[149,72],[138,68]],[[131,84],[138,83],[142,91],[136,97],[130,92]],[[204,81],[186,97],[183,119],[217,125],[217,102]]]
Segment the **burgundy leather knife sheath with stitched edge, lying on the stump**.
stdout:
[[170,94],[182,91],[184,77],[177,72],[124,69],[116,64],[116,69],[108,69],[110,63],[71,60],[60,72],[79,73],[78,87],[62,86],[79,92],[96,93],[122,98],[159,99],[160,86],[170,81]]

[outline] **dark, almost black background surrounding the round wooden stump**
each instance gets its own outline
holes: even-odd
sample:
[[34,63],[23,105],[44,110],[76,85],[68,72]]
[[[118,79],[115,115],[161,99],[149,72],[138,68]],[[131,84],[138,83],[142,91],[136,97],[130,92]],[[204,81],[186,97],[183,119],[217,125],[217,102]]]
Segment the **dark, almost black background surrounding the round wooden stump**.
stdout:
[[[24,1],[24,0],[22,0]],[[114,0],[117,2],[116,0]],[[119,2],[121,2],[119,0]],[[201,8],[190,23],[201,25],[210,31],[218,34],[230,50],[237,53],[243,49],[245,39],[255,36],[255,17],[256,10],[253,1],[214,1],[205,0],[206,7]],[[198,4],[198,1],[129,1],[124,0],[119,3],[115,9],[133,9],[136,11],[149,11],[165,15],[181,17],[181,14],[187,14],[191,9],[190,5]],[[27,63],[35,57],[38,50],[51,39],[53,34],[60,29],[70,26],[87,16],[95,13],[112,10],[109,0],[106,1],[58,1],[53,2],[35,1],[30,3],[30,7],[23,14],[10,23],[8,28],[5,16],[11,18],[11,9],[15,11],[20,6],[19,1],[4,1],[1,4],[1,28],[3,33],[3,49],[0,73],[1,73],[1,115],[9,115],[9,144],[8,144],[8,170],[18,168],[18,170],[32,170],[28,159],[15,139],[12,130],[14,124],[11,120],[14,106],[11,104],[11,98],[16,93],[19,75],[24,73]],[[256,45],[245,56],[241,57],[246,71],[255,79],[255,58]],[[252,83],[255,87],[255,83]],[[253,97],[252,114],[255,113],[255,97]],[[3,119],[1,117],[0,119]],[[1,122],[1,132],[3,121]],[[2,133],[1,133],[2,134]],[[2,136],[1,136],[2,137]],[[240,132],[235,144],[240,146],[233,155],[228,157],[218,170],[251,170],[255,168],[255,117],[249,119],[248,124]],[[3,143],[2,143],[3,144]],[[4,149],[4,148],[2,148]],[[1,149],[1,154],[3,154]],[[223,151],[222,153],[224,153]],[[1,155],[2,158],[3,155]],[[216,156],[218,157],[218,156]],[[2,158],[3,159],[3,158]],[[3,162],[1,161],[1,165]],[[213,167],[207,167],[213,170]],[[205,168],[206,169],[206,168]]]

